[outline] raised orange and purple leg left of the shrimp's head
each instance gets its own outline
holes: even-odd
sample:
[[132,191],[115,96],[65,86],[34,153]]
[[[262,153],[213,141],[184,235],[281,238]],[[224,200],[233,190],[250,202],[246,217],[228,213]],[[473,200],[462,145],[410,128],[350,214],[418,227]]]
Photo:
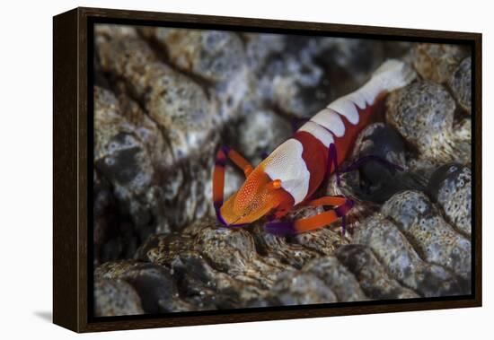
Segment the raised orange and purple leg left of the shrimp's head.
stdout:
[[223,192],[225,189],[225,165],[227,158],[243,170],[245,177],[248,177],[253,170],[249,161],[246,161],[240,153],[237,153],[228,146],[222,146],[216,153],[215,170],[213,171],[213,202],[215,204],[216,217],[224,224],[225,222],[219,214],[219,209],[223,205],[224,200]]

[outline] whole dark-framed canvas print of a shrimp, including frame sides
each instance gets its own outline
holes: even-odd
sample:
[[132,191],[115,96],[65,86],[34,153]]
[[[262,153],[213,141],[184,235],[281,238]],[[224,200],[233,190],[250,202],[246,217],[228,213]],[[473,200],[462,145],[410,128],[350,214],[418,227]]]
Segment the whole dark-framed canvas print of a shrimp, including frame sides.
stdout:
[[481,34],[53,23],[57,325],[481,306]]

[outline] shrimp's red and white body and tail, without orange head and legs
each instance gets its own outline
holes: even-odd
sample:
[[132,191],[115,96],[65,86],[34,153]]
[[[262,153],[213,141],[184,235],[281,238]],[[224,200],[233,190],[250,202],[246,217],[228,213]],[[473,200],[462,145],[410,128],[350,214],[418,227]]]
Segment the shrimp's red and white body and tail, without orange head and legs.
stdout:
[[358,132],[368,124],[376,102],[414,78],[415,73],[405,63],[385,61],[367,83],[314,115],[260,165],[270,179],[281,180],[294,205],[303,202],[327,176],[330,144],[336,146],[340,164]]

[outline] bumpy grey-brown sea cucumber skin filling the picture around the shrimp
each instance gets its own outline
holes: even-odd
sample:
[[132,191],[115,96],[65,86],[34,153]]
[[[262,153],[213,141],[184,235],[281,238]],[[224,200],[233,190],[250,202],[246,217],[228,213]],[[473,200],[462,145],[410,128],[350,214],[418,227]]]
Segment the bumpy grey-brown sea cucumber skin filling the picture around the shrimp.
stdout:
[[[113,316],[469,294],[471,51],[466,46],[96,25],[94,315]],[[321,196],[357,201],[293,237],[265,221],[221,228],[216,150],[252,164],[355,91],[390,57],[416,81],[390,93]],[[243,183],[227,168],[225,197]],[[301,209],[296,219],[322,208]]]

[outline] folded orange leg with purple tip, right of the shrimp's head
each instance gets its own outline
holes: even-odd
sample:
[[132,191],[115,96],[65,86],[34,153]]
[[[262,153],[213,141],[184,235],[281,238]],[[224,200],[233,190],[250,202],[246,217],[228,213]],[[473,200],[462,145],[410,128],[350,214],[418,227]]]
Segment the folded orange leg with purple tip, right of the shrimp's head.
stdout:
[[276,235],[293,235],[325,227],[331,222],[335,222],[340,217],[344,222],[345,215],[348,214],[348,211],[353,207],[354,202],[343,196],[325,196],[306,202],[304,205],[336,206],[327,212],[296,220],[295,222],[269,222],[264,228],[265,231]]

